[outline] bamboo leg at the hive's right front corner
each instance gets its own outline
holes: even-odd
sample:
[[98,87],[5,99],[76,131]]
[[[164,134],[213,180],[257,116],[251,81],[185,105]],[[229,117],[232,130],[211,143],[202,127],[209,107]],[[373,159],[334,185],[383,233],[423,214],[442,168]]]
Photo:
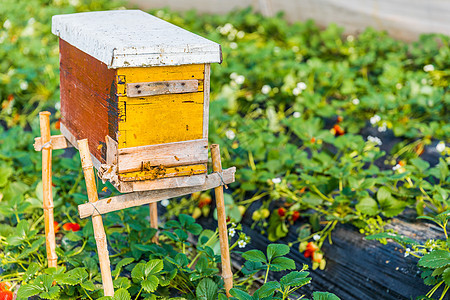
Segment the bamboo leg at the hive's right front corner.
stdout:
[[[211,145],[211,156],[213,171],[222,172],[219,145]],[[228,246],[227,216],[225,214],[225,203],[223,199],[223,186],[214,189],[216,194],[217,222],[219,224],[220,253],[222,257],[222,278],[225,283],[227,297],[231,297],[230,289],[233,287],[233,273],[231,272],[230,249]]]

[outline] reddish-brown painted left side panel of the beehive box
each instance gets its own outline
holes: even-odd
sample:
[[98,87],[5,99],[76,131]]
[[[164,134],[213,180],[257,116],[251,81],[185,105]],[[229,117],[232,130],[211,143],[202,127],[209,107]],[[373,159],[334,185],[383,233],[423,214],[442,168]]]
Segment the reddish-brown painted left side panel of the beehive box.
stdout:
[[106,162],[105,137],[116,138],[116,71],[60,40],[61,122],[91,153]]

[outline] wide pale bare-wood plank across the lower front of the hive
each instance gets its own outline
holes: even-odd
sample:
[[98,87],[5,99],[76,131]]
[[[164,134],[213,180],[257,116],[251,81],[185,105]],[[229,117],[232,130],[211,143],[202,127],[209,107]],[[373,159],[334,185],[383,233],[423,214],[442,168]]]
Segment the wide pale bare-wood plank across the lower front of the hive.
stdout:
[[165,167],[200,164],[208,161],[208,140],[122,148],[118,152],[119,173],[140,170],[143,162]]

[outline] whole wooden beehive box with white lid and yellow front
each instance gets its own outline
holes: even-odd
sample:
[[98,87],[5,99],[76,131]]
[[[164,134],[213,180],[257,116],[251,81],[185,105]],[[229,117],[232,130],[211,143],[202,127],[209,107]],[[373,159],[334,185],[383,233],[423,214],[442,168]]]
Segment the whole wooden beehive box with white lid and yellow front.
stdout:
[[54,16],[61,132],[120,192],[201,185],[220,45],[139,10]]

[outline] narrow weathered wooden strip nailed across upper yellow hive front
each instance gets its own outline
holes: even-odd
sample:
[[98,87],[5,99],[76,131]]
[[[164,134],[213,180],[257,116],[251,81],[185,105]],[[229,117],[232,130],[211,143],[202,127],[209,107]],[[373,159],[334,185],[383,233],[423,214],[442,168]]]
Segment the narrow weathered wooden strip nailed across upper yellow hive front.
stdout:
[[169,80],[127,84],[127,97],[144,97],[164,94],[198,92],[198,80]]

